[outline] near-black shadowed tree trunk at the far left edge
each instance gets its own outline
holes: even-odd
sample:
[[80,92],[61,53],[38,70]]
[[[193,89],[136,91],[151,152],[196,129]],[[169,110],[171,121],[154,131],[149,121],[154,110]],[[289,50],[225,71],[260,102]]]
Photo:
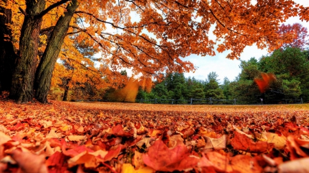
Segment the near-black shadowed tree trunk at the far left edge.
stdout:
[[[6,3],[6,0],[4,1]],[[11,42],[12,32],[7,24],[12,23],[12,11],[0,6],[0,92],[10,90],[12,73],[15,68],[16,53]]]

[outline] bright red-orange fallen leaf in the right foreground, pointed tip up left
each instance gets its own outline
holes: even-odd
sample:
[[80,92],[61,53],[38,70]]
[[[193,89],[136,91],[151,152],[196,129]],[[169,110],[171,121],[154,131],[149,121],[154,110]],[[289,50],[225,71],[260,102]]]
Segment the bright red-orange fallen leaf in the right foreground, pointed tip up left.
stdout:
[[231,145],[235,150],[244,150],[247,152],[266,152],[270,151],[274,144],[268,142],[253,142],[252,139],[244,134],[234,132],[234,137],[231,139]]

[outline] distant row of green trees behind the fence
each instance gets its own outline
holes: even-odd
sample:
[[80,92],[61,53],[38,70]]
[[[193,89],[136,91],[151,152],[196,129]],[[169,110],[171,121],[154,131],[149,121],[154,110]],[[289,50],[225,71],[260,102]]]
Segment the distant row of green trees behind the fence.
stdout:
[[[216,72],[210,72],[205,81],[185,77],[182,73],[165,75],[161,82],[155,82],[151,92],[139,89],[137,99],[214,98],[231,100],[280,101],[282,99],[303,98],[309,101],[309,51],[297,47],[284,47],[248,61],[240,60],[241,72],[233,81],[227,77],[219,83]],[[262,72],[272,72],[276,80],[269,83],[266,92],[261,93],[254,79]]]

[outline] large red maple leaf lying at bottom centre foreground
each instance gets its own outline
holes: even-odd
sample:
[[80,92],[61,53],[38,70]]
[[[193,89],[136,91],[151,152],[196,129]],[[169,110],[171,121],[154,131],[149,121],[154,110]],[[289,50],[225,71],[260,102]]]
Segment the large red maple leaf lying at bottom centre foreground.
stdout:
[[148,152],[143,155],[143,161],[150,168],[157,171],[174,171],[194,168],[199,158],[190,156],[187,146],[178,145],[170,149],[161,139],[149,147]]

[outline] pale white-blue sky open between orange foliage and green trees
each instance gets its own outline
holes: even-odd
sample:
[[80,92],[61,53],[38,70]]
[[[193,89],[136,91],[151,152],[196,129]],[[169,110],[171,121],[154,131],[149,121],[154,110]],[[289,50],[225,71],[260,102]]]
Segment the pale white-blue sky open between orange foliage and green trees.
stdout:
[[[296,3],[299,3],[304,6],[309,6],[309,0],[294,0]],[[300,23],[303,27],[307,27],[309,31],[309,23],[302,22],[299,20],[299,17],[288,18],[284,24],[293,24]],[[184,61],[190,61],[197,67],[195,72],[186,72],[185,77],[194,77],[195,79],[204,80],[207,79],[209,72],[216,72],[218,75],[218,81],[223,82],[223,79],[227,77],[229,81],[233,81],[238,74],[240,73],[240,60],[237,59],[227,59],[228,51],[223,53],[216,52],[216,56],[206,56],[201,57],[198,55],[190,55],[185,57]],[[247,46],[243,53],[240,55],[240,59],[249,60],[251,57],[255,59],[260,59],[262,55],[268,55],[266,49],[258,49],[257,46]]]

